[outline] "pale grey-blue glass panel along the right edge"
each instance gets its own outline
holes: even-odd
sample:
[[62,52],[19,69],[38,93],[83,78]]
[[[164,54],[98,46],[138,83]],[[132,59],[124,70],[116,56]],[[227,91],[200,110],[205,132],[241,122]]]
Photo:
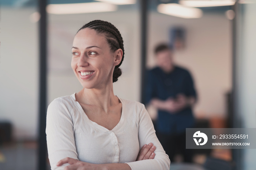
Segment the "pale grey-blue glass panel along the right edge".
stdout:
[[[235,105],[236,127],[256,128],[256,1],[237,4],[236,58],[235,58]],[[256,141],[255,136],[253,138]],[[255,169],[254,149],[240,151],[238,169]]]

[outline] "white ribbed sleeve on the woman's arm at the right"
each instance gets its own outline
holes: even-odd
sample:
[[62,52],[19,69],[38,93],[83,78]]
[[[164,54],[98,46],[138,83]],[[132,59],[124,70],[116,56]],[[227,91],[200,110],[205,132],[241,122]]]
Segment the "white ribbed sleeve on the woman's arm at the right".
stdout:
[[155,158],[129,162],[128,165],[132,168],[132,170],[169,170],[170,159],[168,155],[165,154],[161,143],[155,135],[153,123],[144,105],[139,115],[138,137],[140,148],[142,148],[144,144],[148,144],[150,142],[154,144],[156,147]]

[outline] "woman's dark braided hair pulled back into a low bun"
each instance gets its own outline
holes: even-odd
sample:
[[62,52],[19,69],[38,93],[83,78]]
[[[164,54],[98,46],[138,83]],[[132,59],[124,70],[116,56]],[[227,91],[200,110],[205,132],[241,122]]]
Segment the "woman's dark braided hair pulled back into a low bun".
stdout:
[[116,82],[118,80],[117,78],[122,74],[119,66],[124,60],[124,41],[120,32],[113,24],[102,20],[93,20],[85,24],[82,28],[78,30],[78,32],[84,28],[90,28],[92,30],[95,30],[97,34],[103,34],[110,46],[110,51],[114,52],[117,49],[121,49],[123,51],[121,62],[115,66],[113,72],[113,82]]

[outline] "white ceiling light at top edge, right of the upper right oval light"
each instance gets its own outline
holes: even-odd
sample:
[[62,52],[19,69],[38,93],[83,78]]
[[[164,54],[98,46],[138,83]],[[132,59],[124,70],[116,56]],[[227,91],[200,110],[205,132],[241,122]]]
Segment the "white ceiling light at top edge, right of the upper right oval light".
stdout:
[[187,7],[218,7],[234,5],[234,0],[180,0],[179,4]]

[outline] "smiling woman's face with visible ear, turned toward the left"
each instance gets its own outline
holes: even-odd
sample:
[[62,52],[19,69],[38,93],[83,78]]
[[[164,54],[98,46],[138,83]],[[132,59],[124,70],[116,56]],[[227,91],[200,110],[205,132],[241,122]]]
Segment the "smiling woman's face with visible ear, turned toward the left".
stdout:
[[71,67],[84,88],[101,88],[112,83],[114,67],[122,55],[121,49],[110,51],[104,36],[85,28],[74,38]]

